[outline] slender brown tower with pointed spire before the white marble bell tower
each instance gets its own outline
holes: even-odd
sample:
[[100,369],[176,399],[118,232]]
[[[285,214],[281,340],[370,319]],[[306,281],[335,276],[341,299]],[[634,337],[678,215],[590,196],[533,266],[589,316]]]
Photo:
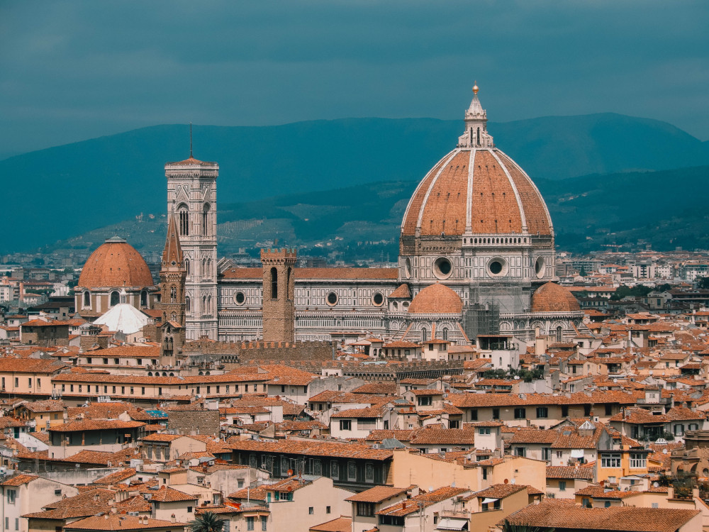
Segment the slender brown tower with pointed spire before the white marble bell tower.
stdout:
[[160,267],[161,357],[176,355],[184,345],[185,277],[184,256],[179,244],[177,223],[174,214],[170,213]]

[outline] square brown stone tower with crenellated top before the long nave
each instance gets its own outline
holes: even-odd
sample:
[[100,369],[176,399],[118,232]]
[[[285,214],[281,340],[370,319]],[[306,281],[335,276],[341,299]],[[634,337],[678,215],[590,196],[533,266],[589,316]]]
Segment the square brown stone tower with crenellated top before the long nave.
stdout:
[[267,342],[295,340],[296,250],[261,250],[263,265],[263,339]]

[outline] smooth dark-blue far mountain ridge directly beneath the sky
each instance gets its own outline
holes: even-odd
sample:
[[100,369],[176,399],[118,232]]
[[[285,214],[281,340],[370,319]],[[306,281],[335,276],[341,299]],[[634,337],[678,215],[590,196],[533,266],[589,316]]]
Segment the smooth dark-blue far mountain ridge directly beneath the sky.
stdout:
[[[220,164],[223,206],[275,193],[418,180],[454,147],[461,128],[459,120],[429,118],[196,126],[194,145],[196,157]],[[617,114],[490,123],[489,130],[535,181],[709,163],[707,143],[667,123]],[[6,198],[0,253],[163,213],[164,163],[186,157],[187,145],[186,126],[154,126],[0,161]]]

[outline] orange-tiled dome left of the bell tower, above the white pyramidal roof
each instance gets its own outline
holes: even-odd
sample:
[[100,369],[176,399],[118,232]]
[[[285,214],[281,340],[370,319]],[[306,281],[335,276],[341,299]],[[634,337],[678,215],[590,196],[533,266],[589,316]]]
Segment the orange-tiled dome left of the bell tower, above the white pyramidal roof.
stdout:
[[152,287],[155,284],[140,253],[114,236],[99,245],[79,275],[79,287]]

